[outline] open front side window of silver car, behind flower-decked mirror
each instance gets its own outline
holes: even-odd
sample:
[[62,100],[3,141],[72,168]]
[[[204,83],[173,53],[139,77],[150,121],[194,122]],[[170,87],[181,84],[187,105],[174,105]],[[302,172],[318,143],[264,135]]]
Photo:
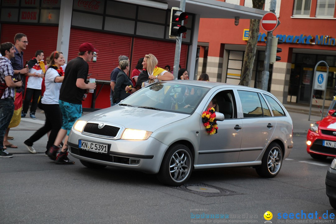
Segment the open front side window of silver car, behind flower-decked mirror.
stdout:
[[224,115],[224,119],[237,118],[236,101],[233,90],[220,91],[213,98],[216,99],[218,112]]

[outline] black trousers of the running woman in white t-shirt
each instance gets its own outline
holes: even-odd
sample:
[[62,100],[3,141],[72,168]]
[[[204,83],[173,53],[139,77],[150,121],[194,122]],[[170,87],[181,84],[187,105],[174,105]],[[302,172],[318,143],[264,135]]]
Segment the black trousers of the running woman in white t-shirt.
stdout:
[[30,136],[30,138],[25,141],[25,144],[33,146],[35,141],[42,138],[48,131],[51,131],[46,146],[46,149],[49,150],[50,146],[54,144],[57,133],[62,126],[62,113],[58,104],[42,104],[42,106],[46,118],[45,124]]

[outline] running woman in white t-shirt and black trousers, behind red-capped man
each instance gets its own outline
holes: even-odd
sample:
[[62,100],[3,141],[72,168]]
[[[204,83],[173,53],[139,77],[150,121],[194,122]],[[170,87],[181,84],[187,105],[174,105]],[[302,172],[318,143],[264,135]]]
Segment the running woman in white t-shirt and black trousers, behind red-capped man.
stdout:
[[54,144],[57,133],[62,126],[62,113],[58,105],[59,90],[61,88],[64,72],[61,65],[64,65],[64,56],[62,52],[54,51],[50,55],[50,66],[45,73],[45,91],[43,94],[42,107],[45,114],[45,124],[42,128],[37,130],[24,144],[25,146],[34,151],[33,143],[39,140],[48,131],[50,132],[49,139],[46,146],[46,154]]

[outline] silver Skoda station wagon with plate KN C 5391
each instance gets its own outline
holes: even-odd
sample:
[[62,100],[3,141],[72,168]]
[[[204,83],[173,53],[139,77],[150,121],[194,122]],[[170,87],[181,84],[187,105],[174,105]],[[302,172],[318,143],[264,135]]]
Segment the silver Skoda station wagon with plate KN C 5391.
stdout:
[[[209,134],[202,114],[214,102],[218,129]],[[269,92],[173,80],[79,118],[68,146],[86,167],[138,170],[179,186],[193,169],[246,166],[275,177],[293,147],[292,133],[287,110]]]

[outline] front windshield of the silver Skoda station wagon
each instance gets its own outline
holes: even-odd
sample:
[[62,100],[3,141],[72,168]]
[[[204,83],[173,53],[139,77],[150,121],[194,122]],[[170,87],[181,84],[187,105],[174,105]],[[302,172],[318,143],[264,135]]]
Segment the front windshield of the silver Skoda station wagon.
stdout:
[[209,88],[159,82],[133,93],[121,105],[192,114]]

